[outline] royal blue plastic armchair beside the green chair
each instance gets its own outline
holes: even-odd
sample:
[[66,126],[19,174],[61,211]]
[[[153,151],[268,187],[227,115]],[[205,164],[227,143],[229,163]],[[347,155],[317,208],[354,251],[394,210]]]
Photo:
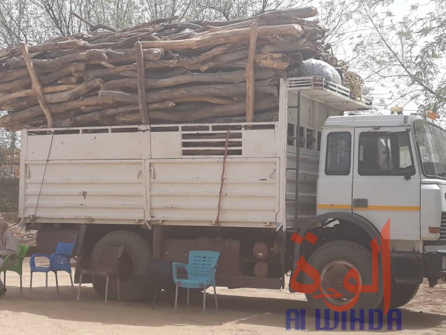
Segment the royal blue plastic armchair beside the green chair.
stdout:
[[[74,285],[73,285],[73,277],[71,275],[71,254],[74,249],[74,245],[76,244],[76,241],[73,243],[63,243],[59,242],[57,243],[56,252],[49,254],[44,253],[35,253],[31,256],[31,259],[29,261],[29,265],[31,268],[31,281],[30,281],[30,291],[29,296],[31,298],[32,294],[32,274],[33,272],[45,272],[46,279],[45,279],[45,300],[48,297],[48,272],[52,271],[54,272],[54,275],[56,277],[56,288],[57,288],[57,298],[59,297],[59,283],[57,281],[57,271],[65,271],[70,274],[70,280],[71,280],[71,288],[74,291]],[[37,257],[45,257],[49,260],[49,266],[36,266],[35,265],[35,259]]]

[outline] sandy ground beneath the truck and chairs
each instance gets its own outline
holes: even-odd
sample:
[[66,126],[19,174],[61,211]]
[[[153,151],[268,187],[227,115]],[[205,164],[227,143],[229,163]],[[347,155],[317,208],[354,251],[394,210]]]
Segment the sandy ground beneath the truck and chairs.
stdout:
[[[76,303],[77,285],[73,292],[67,273],[59,273],[60,298],[57,299],[54,274],[49,274],[48,300],[45,301],[45,274],[36,273],[32,298],[29,293],[29,263],[23,268],[23,297],[18,275],[7,273],[8,292],[0,298],[0,334],[234,334],[263,335],[298,332],[287,331],[288,309],[308,308],[300,293],[284,290],[217,288],[219,310],[215,310],[213,293],[208,293],[207,313],[202,314],[202,295],[191,295],[191,305],[179,300],[174,313],[173,297],[167,292],[158,295],[155,309],[145,303],[111,301],[108,305],[97,295],[92,300],[91,284],[83,285],[80,302]],[[74,271],[74,268],[73,268]],[[3,279],[3,278],[2,278]],[[430,289],[424,284],[415,299],[402,309],[401,334],[446,333],[446,284]],[[314,316],[307,315],[307,331],[315,332]],[[325,333],[344,333],[340,330]],[[350,327],[349,327],[350,329]],[[358,329],[358,328],[356,328]],[[384,331],[388,331],[384,326]],[[363,333],[380,333],[378,331]],[[317,331],[318,333],[324,333]],[[351,332],[352,331],[348,331]]]

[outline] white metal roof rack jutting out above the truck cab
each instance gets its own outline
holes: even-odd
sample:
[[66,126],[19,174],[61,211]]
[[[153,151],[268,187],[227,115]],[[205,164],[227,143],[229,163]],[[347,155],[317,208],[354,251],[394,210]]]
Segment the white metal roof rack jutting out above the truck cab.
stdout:
[[287,89],[288,91],[300,90],[302,95],[312,100],[330,104],[343,111],[372,109],[371,98],[361,96],[360,100],[356,100],[351,89],[330,82],[321,76],[288,78]]

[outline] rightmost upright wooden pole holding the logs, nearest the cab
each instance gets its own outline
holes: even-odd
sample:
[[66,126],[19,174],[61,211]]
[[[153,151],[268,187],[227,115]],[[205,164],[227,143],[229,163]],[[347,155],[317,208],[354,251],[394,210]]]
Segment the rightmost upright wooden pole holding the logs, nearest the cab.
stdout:
[[257,45],[257,23],[251,23],[248,60],[246,62],[246,122],[254,121],[254,61]]

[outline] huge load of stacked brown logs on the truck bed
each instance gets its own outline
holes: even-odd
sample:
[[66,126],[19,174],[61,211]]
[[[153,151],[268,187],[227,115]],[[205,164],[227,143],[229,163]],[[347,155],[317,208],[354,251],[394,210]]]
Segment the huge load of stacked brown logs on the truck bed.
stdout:
[[326,57],[314,7],[228,22],[157,19],[0,50],[7,130],[201,122],[268,122],[280,77]]

